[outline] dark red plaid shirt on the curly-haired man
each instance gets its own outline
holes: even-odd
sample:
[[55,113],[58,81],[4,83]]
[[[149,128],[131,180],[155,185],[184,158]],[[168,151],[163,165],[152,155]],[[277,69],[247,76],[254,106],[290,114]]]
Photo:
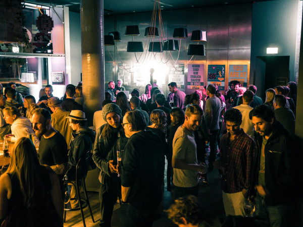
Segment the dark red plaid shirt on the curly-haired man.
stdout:
[[220,159],[226,167],[226,174],[221,179],[221,189],[225,193],[236,193],[251,186],[256,144],[243,129],[232,142],[229,137],[229,133],[224,134],[220,142]]

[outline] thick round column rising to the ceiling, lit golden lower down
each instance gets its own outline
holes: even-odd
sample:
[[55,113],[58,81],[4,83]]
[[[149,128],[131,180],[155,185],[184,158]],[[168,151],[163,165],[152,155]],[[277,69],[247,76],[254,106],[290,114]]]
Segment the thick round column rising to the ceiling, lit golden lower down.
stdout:
[[92,126],[105,98],[103,0],[81,0],[80,17],[84,109]]

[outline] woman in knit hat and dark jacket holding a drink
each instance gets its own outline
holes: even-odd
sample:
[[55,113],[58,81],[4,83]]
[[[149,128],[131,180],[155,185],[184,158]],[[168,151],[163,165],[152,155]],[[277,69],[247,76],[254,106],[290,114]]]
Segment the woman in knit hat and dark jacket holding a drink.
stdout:
[[121,192],[118,191],[118,188],[121,188],[121,181],[117,175],[117,151],[124,150],[128,139],[121,125],[123,119],[120,107],[115,103],[109,103],[102,111],[107,124],[97,129],[92,158],[100,169],[99,226],[111,226],[114,204],[117,197],[121,197]]

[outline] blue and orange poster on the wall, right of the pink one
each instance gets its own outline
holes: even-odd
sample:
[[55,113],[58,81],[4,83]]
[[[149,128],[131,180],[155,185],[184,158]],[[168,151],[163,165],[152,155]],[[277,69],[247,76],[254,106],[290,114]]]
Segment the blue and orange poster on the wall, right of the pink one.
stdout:
[[225,65],[209,65],[207,84],[217,84],[220,91],[225,89]]

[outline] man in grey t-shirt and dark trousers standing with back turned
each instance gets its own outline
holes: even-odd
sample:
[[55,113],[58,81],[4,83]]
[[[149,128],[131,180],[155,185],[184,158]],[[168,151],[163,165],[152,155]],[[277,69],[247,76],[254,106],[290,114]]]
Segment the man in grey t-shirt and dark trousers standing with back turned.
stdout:
[[207,95],[210,96],[206,100],[205,105],[205,121],[209,130],[211,153],[209,156],[209,169],[213,170],[213,162],[216,159],[217,153],[217,137],[219,136],[219,117],[221,109],[221,101],[216,97],[216,87],[212,84],[207,86]]

